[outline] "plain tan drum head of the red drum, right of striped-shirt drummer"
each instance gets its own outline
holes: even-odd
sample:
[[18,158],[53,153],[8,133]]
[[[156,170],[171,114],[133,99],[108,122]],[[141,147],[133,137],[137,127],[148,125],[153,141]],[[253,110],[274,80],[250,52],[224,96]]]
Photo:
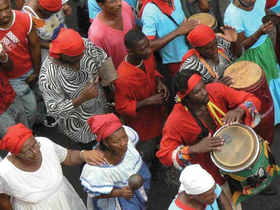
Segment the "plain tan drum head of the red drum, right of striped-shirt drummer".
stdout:
[[261,67],[254,62],[241,61],[230,65],[223,76],[233,76],[232,87],[235,89],[246,89],[254,86],[263,78]]

